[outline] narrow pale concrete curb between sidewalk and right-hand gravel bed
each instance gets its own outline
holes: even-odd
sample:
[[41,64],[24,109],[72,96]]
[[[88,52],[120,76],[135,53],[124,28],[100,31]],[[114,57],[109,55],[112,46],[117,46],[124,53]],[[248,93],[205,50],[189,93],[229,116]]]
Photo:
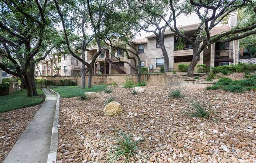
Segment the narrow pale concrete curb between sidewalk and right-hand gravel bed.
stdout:
[[53,94],[57,95],[56,107],[55,107],[55,114],[53,120],[53,128],[51,132],[51,146],[50,151],[48,154],[47,163],[56,163],[57,162],[57,151],[58,151],[58,139],[59,139],[59,101],[60,101],[60,94],[58,92],[49,89]]

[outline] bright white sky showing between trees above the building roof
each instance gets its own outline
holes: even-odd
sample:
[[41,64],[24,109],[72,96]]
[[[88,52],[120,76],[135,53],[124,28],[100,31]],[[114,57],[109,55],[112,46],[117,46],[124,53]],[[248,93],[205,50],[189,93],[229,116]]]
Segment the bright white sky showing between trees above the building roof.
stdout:
[[[184,14],[181,14],[178,18],[177,18],[177,26],[185,26],[185,25],[190,25],[190,24],[196,24],[196,23],[199,23],[199,18],[198,16],[193,13],[189,16],[186,16]],[[164,22],[161,22],[161,25],[164,25]],[[155,27],[151,27],[150,30],[154,30]],[[151,35],[152,33],[147,33],[145,31],[141,31],[139,33],[140,35],[137,35],[136,36],[136,39],[138,38],[145,38],[146,36],[149,36]]]

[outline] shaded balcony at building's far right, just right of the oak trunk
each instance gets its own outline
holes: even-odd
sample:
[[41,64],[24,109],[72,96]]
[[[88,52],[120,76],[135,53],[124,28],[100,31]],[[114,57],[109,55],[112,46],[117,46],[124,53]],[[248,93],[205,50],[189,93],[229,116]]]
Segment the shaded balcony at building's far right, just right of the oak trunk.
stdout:
[[214,61],[215,62],[233,62],[233,50],[221,50],[214,51]]

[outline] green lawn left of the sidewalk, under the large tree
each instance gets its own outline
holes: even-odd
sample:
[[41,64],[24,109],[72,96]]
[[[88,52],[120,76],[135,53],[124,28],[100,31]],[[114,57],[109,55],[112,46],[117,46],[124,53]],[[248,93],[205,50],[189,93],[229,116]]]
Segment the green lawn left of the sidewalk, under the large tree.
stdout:
[[37,89],[38,97],[28,97],[27,90],[15,91],[13,94],[0,96],[0,112],[7,112],[14,109],[20,109],[41,103],[43,92]]

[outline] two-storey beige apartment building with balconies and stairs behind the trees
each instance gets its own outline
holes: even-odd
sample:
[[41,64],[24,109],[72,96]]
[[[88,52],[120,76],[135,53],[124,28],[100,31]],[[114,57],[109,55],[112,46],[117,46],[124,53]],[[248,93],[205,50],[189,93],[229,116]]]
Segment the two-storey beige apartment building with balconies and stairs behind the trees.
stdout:
[[[224,31],[229,31],[237,22],[237,13],[231,13],[228,18],[228,24],[219,27],[214,27],[210,31],[210,36],[220,34]],[[196,38],[197,27],[199,24],[192,24],[180,27],[185,32],[186,36],[193,39]],[[176,37],[176,34],[170,30],[164,33],[165,48],[169,58],[169,70],[179,71],[179,64],[190,64],[193,58],[192,46],[183,41],[181,38]],[[130,44],[135,47],[141,59],[141,66],[147,67],[148,72],[159,72],[161,67],[164,66],[164,58],[157,37],[152,34],[146,38],[131,40]],[[134,51],[132,47],[130,51]],[[86,62],[91,63],[94,54],[97,53],[97,47],[89,48],[85,52]],[[130,56],[133,54],[130,53]],[[101,54],[95,61],[93,66],[93,74],[135,74],[134,70],[127,64],[120,61],[129,62],[135,65],[135,62],[128,59],[124,51],[118,48],[102,47]],[[216,67],[222,65],[238,64],[238,62],[247,62],[247,60],[239,60],[239,40],[231,42],[216,42],[212,43],[203,51],[199,56],[197,64],[205,64],[206,67]],[[82,63],[70,54],[59,54],[57,61],[57,69],[59,74],[51,72],[50,64],[42,63],[42,71],[46,74],[42,75],[80,75]],[[55,68],[56,69],[56,68]],[[48,72],[49,71],[49,72]],[[195,68],[196,71],[196,68]],[[86,73],[88,70],[86,71]]]

